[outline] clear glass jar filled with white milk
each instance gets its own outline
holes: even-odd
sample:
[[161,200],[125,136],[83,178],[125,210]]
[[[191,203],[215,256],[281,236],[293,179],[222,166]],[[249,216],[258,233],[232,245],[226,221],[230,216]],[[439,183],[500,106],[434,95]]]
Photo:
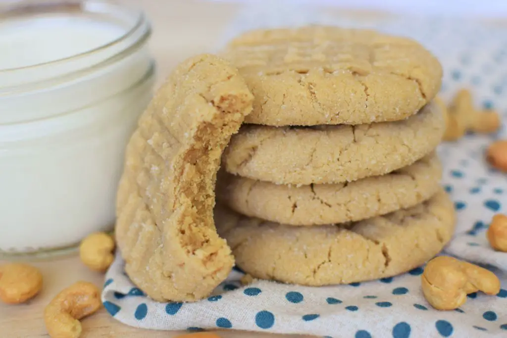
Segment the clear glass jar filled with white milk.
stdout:
[[124,149],[147,106],[151,27],[102,1],[0,11],[0,255],[111,230]]

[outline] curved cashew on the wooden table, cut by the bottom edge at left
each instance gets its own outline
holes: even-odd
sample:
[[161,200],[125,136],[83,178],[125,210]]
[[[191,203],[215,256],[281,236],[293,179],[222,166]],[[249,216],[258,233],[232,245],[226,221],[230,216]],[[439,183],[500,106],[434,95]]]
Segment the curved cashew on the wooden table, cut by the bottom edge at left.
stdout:
[[77,282],[58,293],[44,309],[44,322],[51,338],[78,338],[79,319],[97,311],[99,289],[88,282]]

